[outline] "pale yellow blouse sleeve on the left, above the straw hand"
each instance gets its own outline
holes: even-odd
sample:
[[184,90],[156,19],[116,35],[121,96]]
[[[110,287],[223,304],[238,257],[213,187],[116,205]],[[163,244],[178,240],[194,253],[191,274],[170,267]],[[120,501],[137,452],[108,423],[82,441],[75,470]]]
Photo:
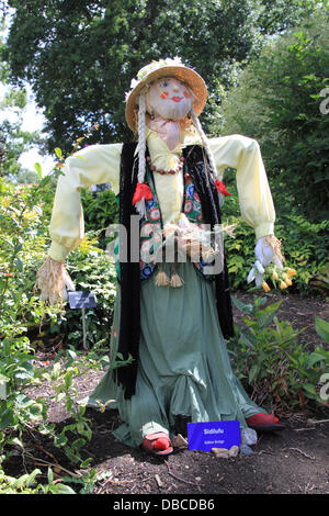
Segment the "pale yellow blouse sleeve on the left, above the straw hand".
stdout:
[[114,193],[120,189],[122,144],[91,145],[64,165],[58,178],[49,225],[50,258],[64,261],[83,238],[84,224],[80,189],[111,182]]

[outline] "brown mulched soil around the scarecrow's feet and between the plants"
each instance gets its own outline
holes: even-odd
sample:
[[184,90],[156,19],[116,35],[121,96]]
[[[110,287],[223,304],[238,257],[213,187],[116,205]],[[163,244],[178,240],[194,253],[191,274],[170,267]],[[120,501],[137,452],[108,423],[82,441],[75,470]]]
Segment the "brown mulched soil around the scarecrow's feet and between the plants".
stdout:
[[[246,303],[253,300],[253,295],[246,292],[235,295]],[[307,327],[299,336],[305,347],[314,349],[317,345],[325,345],[314,329],[314,315],[328,321],[328,303],[288,294],[268,296],[270,302],[283,300],[279,318],[290,321],[296,329]],[[236,310],[235,315],[238,321]],[[39,355],[41,360],[47,358],[46,354]],[[76,380],[81,399],[93,390],[102,374],[90,371]],[[30,395],[33,392],[37,396],[47,394],[43,388],[30,390]],[[82,456],[93,458],[92,465],[99,473],[107,473],[95,484],[95,494],[184,494],[192,497],[201,494],[329,494],[329,407],[284,414],[281,417],[286,424],[284,431],[259,435],[257,445],[252,447],[253,455],[230,459],[218,459],[212,453],[189,449],[175,450],[166,458],[150,456],[114,439],[111,430],[121,424],[116,411],[99,413],[88,410],[87,416],[93,435]],[[59,404],[50,406],[49,420],[56,424],[58,431],[70,423],[69,415]],[[18,476],[25,472],[25,468],[31,471],[36,467],[36,459],[57,464],[55,472],[58,478],[66,474],[60,468],[79,473],[45,436],[31,430],[25,442],[34,459],[24,457],[23,461],[18,450],[5,463],[8,474]],[[44,470],[46,473],[47,468]],[[78,490],[75,484],[72,487]]]

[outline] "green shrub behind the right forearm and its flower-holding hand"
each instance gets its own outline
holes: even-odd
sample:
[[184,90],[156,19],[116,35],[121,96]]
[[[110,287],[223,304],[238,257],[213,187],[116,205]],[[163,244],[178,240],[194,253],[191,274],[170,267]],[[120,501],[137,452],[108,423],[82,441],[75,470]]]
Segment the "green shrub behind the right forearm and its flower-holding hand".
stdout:
[[[232,172],[234,173],[234,172]],[[254,262],[254,231],[239,215],[237,189],[232,173],[227,176],[228,190],[231,195],[223,206],[224,224],[237,224],[235,238],[225,238],[228,271],[232,290],[246,290],[248,272]],[[328,270],[329,221],[318,224],[310,223],[300,215],[297,206],[290,203],[290,199],[282,200],[277,189],[271,187],[276,210],[274,225],[275,236],[281,239],[285,265],[296,269],[297,276],[288,292],[300,295],[316,295],[329,293],[324,274]],[[276,202],[277,201],[277,202]],[[321,289],[315,282],[318,274],[322,274]],[[252,283],[253,285],[253,283]],[[280,292],[280,291],[279,291]]]

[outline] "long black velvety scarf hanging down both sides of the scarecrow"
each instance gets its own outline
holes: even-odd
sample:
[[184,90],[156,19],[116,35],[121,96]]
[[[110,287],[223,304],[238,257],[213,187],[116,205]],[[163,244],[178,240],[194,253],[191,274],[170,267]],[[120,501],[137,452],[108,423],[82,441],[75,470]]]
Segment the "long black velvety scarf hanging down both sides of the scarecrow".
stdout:
[[[138,159],[134,160],[136,143],[124,144],[121,155],[120,179],[120,224],[126,227],[127,261],[121,262],[121,323],[117,352],[126,360],[131,355],[132,363],[114,371],[115,380],[122,384],[125,399],[135,394],[140,337],[140,270],[139,262],[131,262],[131,215],[137,211],[133,205],[133,197],[137,186]],[[148,153],[147,153],[148,155]],[[209,165],[203,148],[185,147],[183,150],[186,170],[200,197],[205,224],[220,224],[220,209],[217,189],[208,172]],[[121,244],[121,243],[120,243]],[[123,248],[123,247],[121,247]],[[228,284],[226,260],[224,270],[215,277],[216,304],[220,328],[225,338],[234,335],[232,312]]]

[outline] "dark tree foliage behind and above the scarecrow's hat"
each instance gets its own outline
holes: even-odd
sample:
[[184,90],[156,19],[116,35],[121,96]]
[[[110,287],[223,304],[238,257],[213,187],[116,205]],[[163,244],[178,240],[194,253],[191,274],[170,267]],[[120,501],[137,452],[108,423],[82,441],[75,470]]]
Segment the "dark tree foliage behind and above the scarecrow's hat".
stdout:
[[131,139],[124,92],[141,66],[167,56],[180,55],[206,80],[207,123],[222,88],[231,85],[262,36],[283,31],[305,11],[297,0],[7,3],[14,9],[5,53],[11,78],[27,80],[45,108],[48,149],[67,149],[95,121],[101,142]]

